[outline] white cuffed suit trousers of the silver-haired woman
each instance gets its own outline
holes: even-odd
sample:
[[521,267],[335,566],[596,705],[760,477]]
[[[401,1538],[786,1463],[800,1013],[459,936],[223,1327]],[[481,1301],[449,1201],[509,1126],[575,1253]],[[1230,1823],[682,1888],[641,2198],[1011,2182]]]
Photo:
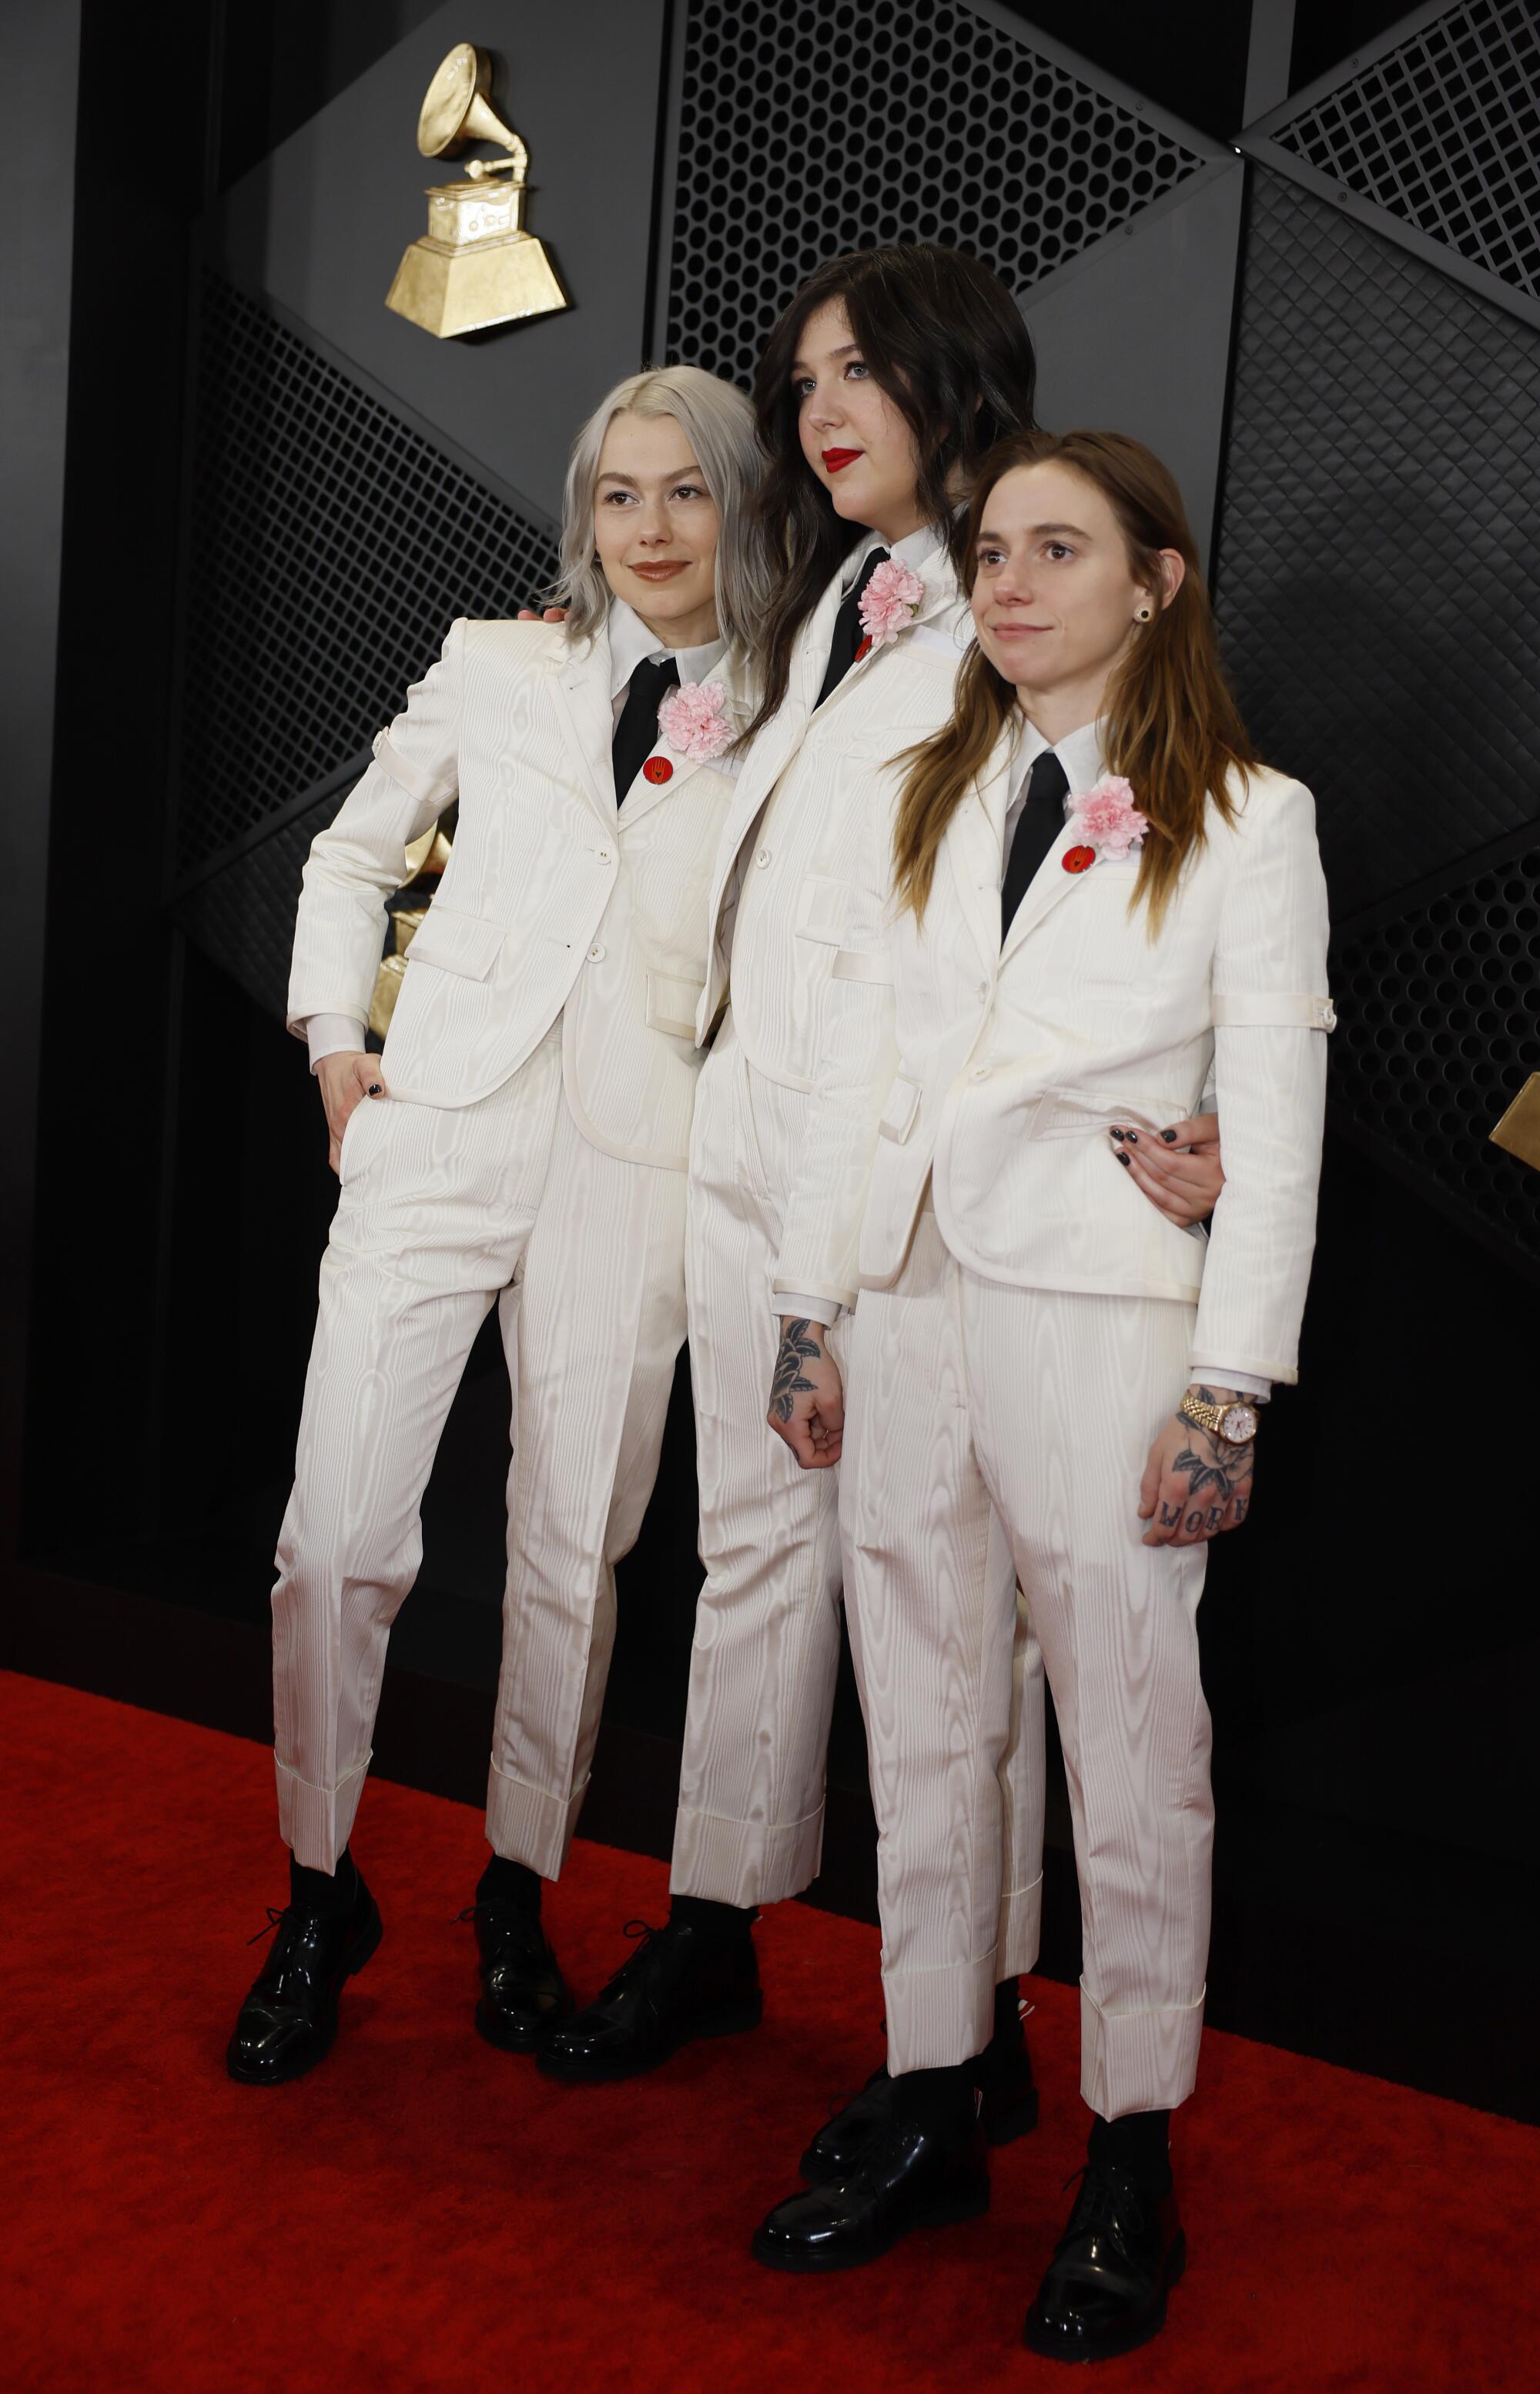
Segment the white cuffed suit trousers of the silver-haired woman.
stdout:
[[552,1879],[684,1338],[684,1173],[583,1140],[560,1022],[473,1106],[363,1099],[347,1125],[273,1592],[280,1824],[313,1870],[354,1824],[423,1487],[495,1302],[514,1453],[488,1839]]

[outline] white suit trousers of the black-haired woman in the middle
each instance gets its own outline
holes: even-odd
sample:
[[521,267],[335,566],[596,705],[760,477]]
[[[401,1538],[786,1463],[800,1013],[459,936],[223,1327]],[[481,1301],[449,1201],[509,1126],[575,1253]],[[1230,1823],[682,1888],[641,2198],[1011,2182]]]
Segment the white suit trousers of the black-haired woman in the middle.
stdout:
[[[777,1903],[818,1877],[839,1669],[839,1468],[803,1472],[765,1422],[780,1345],[770,1281],[806,1111],[799,1089],[748,1065],[727,1022],[701,1073],[689,1175],[705,1587],[670,1884],[674,1894],[739,1906]],[[830,1333],[842,1365],[847,1331],[837,1324]],[[1014,1621],[1016,1575],[988,1506],[966,1568],[973,1606]],[[1007,1628],[1004,1671],[1007,1716],[995,1738],[1000,1977],[1035,1963],[1043,1906],[1043,1661],[1026,1618],[1014,1654]]]

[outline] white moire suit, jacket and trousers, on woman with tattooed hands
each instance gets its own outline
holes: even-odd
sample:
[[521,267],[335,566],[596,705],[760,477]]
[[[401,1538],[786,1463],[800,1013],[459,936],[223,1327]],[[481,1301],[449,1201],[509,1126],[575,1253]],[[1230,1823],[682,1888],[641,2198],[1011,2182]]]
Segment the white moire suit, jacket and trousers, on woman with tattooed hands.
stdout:
[[[1067,871],[1067,824],[1002,946],[1007,783],[1002,747],[947,826],[923,926],[882,874],[847,900],[851,965],[892,972],[899,1053],[858,1235],[847,1611],[890,2066],[952,2064],[990,2025],[1009,1690],[1007,1611],[978,1604],[961,1554],[985,1499],[1002,1515],[1069,1767],[1083,2092],[1117,2116],[1191,2090],[1210,1901],[1203,1549],[1143,1544],[1138,1482],[1210,1360],[1296,1377],[1334,1020],[1327,910],[1308,790],[1258,773],[1234,824],[1210,807],[1155,938],[1129,910],[1136,859]],[[887,826],[861,855],[890,852],[894,795],[875,792]],[[1191,1113],[1210,1063],[1227,1183],[1203,1242],[1126,1185],[1102,1132]],[[835,1240],[842,1108],[830,1058],[808,1154]]]

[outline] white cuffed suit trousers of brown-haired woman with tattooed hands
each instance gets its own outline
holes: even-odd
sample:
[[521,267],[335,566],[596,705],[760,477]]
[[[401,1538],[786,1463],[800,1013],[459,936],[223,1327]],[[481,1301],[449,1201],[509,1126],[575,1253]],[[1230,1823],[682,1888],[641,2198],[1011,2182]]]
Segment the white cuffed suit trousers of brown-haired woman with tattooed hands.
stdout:
[[[1002,1977],[1000,1776],[1014,1614],[976,1568],[1007,1523],[1059,1721],[1081,1879],[1081,2092],[1193,2088],[1212,1800],[1203,1547],[1145,1547],[1138,1482],[1188,1381],[1193,1307],[1004,1288],[923,1211],[854,1314],[844,1592],[866,1709],[890,2068],[966,2061]],[[1009,1882],[1007,1882],[1009,1884]]]

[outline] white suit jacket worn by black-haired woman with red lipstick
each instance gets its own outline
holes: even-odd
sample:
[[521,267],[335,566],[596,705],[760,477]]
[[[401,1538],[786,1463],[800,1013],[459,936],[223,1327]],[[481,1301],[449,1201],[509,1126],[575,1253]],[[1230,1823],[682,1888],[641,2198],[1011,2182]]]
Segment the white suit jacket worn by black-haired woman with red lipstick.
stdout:
[[[904,558],[911,543],[897,543]],[[847,929],[854,888],[882,869],[866,855],[880,768],[952,713],[952,689],[973,630],[937,539],[916,572],[923,598],[897,642],[851,666],[818,704],[839,589],[835,575],[796,637],[792,680],[739,771],[710,893],[710,970],[698,1034],[722,998],[748,1063],[789,1089],[813,1089],[835,1058],[842,1106],[830,1140],[866,1185],[875,1111],[892,1075],[892,991],[873,982]],[[847,962],[839,965],[842,950]],[[854,958],[854,960],[851,960]],[[837,1166],[835,1166],[837,1168]],[[835,1219],[808,1202],[803,1159],[787,1192],[775,1283],[830,1305],[856,1298],[849,1207]],[[858,1211],[858,1209],[856,1209]]]

